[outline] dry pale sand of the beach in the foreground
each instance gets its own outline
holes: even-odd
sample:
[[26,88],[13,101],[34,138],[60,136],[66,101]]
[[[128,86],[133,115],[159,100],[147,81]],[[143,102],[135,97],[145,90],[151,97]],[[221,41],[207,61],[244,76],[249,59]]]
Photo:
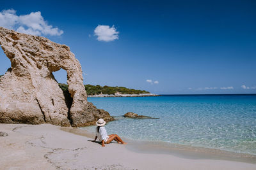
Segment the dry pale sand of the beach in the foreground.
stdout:
[[246,162],[135,152],[131,142],[103,148],[92,142],[92,134],[72,127],[0,124],[0,129],[8,134],[0,137],[0,169],[256,169]]

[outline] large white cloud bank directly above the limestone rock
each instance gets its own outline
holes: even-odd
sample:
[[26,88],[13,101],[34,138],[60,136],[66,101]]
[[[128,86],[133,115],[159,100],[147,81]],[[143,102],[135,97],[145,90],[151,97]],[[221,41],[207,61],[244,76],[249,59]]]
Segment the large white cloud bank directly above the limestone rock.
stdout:
[[28,15],[17,15],[15,10],[3,10],[0,12],[0,26],[35,36],[63,34],[58,27],[48,25],[40,11],[31,12]]

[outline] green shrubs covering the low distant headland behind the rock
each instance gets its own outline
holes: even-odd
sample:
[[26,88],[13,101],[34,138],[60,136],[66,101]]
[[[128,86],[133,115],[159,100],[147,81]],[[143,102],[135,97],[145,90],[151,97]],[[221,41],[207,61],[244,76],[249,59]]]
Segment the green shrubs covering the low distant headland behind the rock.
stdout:
[[[59,83],[60,88],[64,93],[68,92],[68,85]],[[125,87],[109,87],[100,85],[84,85],[84,88],[87,92],[87,95],[95,95],[95,94],[115,94],[116,92],[120,92],[122,94],[148,94],[149,92],[145,90],[135,90],[135,89],[127,89]]]

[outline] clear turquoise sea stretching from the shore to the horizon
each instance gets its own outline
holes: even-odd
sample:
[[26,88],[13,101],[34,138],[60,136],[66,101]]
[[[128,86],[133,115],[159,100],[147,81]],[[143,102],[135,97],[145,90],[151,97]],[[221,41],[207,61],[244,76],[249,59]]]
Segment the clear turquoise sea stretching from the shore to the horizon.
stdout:
[[[120,120],[108,134],[256,155],[256,95],[88,97],[97,108],[120,116],[132,111],[159,119]],[[84,127],[95,131],[95,126]]]

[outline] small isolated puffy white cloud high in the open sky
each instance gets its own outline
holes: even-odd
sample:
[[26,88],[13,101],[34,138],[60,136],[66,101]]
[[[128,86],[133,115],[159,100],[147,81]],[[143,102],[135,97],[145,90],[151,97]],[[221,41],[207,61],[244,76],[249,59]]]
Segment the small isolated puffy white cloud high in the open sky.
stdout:
[[109,25],[98,25],[94,30],[95,36],[98,36],[99,41],[114,41],[118,39],[119,32],[116,31],[114,25],[109,27]]

